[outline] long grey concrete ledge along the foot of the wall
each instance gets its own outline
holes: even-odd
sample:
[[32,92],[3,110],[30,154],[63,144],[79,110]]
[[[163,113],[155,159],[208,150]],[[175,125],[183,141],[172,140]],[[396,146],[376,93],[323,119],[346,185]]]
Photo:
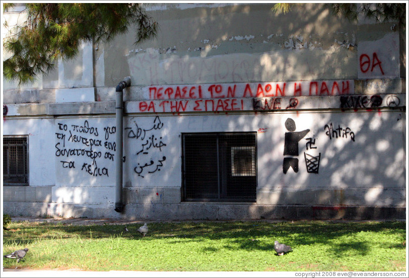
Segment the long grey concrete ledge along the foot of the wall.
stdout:
[[256,220],[256,219],[406,219],[406,208],[385,206],[343,206],[339,210],[313,210],[311,205],[258,204],[135,204],[125,205],[124,213],[114,205],[83,206],[67,203],[4,202],[4,213],[10,216],[44,216],[63,218],[112,218],[149,221]]

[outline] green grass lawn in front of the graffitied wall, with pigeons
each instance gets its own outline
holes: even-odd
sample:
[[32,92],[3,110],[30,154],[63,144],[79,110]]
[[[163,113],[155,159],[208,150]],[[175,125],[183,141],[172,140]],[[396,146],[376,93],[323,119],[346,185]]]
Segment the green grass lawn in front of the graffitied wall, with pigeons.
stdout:
[[[12,222],[6,268],[91,271],[405,271],[405,222],[154,222],[74,226]],[[274,241],[293,251],[277,256]],[[4,255],[3,254],[3,255]]]

